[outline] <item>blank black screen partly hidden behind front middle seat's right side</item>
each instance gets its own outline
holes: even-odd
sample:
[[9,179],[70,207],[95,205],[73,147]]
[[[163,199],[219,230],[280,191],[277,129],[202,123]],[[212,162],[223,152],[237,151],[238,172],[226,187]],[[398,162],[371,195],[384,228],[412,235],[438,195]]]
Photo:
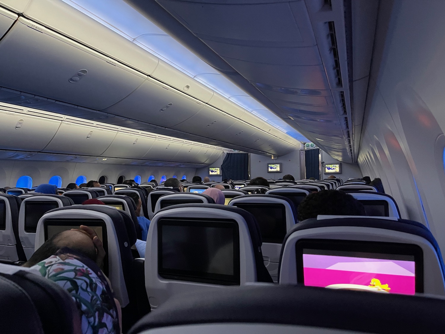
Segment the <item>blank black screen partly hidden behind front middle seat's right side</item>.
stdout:
[[286,211],[283,204],[235,204],[255,216],[263,242],[283,243],[286,236]]

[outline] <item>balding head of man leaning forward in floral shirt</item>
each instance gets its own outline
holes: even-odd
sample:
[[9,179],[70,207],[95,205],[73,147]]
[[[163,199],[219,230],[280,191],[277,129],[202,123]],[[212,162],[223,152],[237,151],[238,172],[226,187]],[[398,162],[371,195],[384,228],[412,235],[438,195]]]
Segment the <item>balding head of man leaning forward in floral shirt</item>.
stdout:
[[24,267],[32,267],[57,253],[60,248],[68,247],[96,261],[97,253],[93,240],[83,232],[68,230],[57,233],[37,249]]

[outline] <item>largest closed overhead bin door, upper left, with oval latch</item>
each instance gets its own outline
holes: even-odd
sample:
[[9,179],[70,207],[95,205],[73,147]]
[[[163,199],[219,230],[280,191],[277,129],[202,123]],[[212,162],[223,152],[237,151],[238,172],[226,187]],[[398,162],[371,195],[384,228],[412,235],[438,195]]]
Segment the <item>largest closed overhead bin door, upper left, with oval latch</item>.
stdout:
[[101,110],[146,76],[19,17],[0,41],[0,86]]

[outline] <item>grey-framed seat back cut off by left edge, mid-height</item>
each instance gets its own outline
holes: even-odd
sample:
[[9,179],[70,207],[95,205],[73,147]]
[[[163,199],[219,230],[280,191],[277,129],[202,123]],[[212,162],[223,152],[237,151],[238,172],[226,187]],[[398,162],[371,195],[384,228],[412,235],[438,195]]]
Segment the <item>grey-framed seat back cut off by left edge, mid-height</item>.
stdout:
[[17,196],[0,194],[0,260],[26,261],[19,237],[19,211],[21,200]]

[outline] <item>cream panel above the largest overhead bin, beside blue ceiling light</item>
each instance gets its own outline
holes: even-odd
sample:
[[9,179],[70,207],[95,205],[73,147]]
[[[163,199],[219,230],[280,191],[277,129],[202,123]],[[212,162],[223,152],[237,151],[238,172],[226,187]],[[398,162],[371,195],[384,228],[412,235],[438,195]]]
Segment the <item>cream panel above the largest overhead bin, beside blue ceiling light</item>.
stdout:
[[33,0],[24,14],[142,73],[150,74],[158,65],[158,57],[61,0]]

